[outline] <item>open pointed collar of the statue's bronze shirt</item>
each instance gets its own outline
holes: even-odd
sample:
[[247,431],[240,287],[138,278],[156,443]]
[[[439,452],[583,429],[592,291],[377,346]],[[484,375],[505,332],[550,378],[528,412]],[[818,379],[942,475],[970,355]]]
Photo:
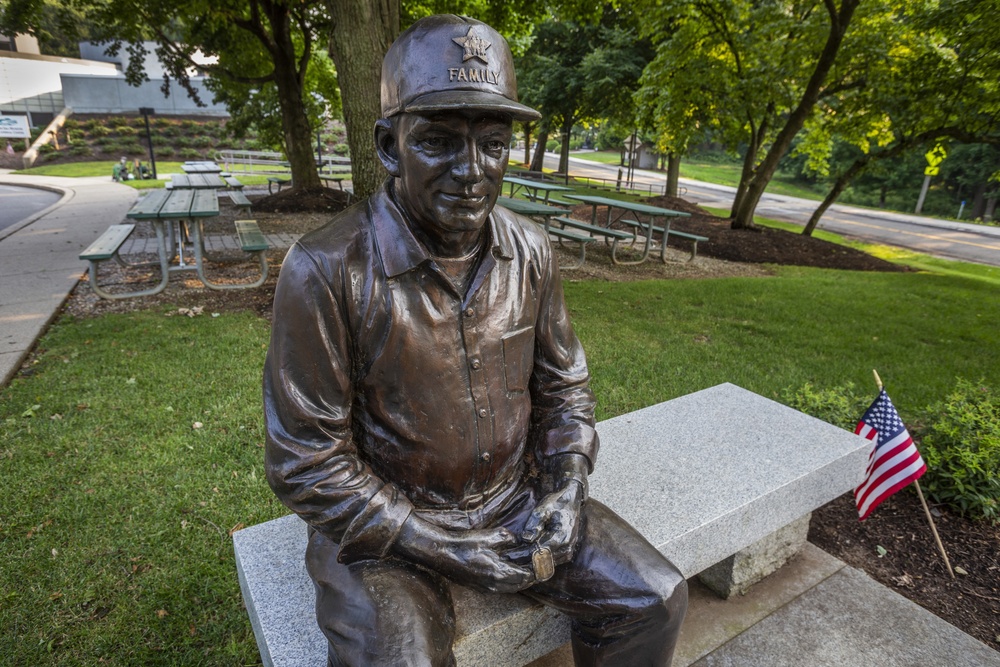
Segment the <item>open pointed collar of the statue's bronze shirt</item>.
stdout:
[[[392,178],[386,179],[368,200],[368,213],[386,276],[395,278],[431,258],[427,248],[413,235],[406,215],[392,196]],[[488,224],[493,256],[513,259],[510,230],[496,209],[490,213]]]

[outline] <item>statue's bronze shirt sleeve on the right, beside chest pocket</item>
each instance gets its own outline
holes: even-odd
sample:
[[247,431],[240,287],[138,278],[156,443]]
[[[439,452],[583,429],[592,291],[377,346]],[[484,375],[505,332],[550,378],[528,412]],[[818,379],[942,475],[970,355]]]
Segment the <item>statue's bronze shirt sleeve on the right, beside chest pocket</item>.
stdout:
[[600,439],[594,428],[596,401],[590,372],[563,297],[559,266],[548,239],[538,253],[538,319],[531,375],[532,432],[543,463],[567,453],[587,457],[594,470]]

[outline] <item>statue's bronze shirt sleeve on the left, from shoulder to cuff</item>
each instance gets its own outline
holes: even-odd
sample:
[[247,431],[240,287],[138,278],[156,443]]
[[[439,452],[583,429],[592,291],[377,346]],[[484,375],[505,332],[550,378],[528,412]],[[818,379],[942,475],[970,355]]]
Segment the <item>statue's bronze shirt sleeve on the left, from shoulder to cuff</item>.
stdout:
[[264,363],[265,470],[281,502],[349,563],[385,556],[413,506],[358,456],[342,285],[298,245],[282,264]]

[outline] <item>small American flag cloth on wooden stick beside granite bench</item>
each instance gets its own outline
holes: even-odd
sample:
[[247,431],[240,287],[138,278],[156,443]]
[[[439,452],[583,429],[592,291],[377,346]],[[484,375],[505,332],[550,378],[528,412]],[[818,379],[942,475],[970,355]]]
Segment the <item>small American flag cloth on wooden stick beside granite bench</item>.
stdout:
[[920,479],[927,465],[885,389],[879,392],[854,432],[875,441],[865,479],[854,490],[858,517],[864,521],[883,500]]

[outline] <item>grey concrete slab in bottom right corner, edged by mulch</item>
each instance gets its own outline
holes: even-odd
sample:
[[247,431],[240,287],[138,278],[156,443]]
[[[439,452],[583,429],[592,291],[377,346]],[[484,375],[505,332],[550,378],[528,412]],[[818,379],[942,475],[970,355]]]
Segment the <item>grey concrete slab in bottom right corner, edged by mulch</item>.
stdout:
[[851,567],[695,667],[1000,667],[1000,653]]

